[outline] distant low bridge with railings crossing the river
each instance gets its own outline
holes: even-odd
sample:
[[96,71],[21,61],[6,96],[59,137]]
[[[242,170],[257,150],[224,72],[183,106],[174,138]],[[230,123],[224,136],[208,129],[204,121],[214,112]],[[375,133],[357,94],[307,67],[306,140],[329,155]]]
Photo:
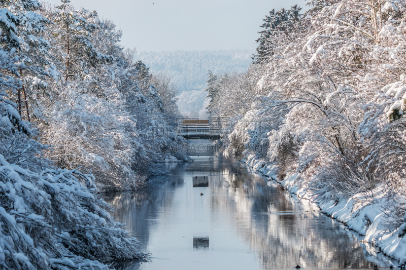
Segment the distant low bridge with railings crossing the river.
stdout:
[[221,129],[211,127],[207,119],[184,119],[178,134],[189,140],[219,140],[223,136]]

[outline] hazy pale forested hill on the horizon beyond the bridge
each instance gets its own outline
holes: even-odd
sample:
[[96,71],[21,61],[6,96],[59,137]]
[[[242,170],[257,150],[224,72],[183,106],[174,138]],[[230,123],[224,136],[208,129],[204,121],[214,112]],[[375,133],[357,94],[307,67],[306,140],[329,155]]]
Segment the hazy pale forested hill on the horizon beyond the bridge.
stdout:
[[209,70],[214,74],[246,71],[252,54],[248,50],[140,52],[136,60],[142,60],[151,73],[172,77],[182,92],[205,88]]

